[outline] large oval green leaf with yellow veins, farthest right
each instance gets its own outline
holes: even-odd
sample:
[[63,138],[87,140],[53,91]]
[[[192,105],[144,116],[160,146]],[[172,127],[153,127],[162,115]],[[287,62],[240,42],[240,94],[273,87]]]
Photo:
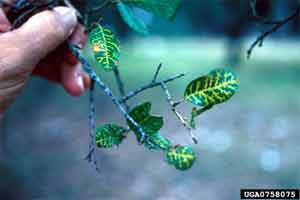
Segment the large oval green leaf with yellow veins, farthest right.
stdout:
[[185,100],[210,108],[230,99],[239,87],[237,76],[229,69],[215,69],[193,80],[184,92]]

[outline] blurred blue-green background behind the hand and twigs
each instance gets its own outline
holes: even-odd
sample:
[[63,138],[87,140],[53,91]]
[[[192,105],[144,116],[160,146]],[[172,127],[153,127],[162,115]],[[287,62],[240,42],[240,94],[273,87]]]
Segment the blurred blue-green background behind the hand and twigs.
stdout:
[[[267,11],[282,18],[297,1],[272,1]],[[160,79],[186,72],[169,84],[183,96],[190,80],[216,67],[240,77],[237,94],[198,119],[192,144],[169,110],[160,89],[130,101],[151,101],[165,117],[161,131],[173,143],[195,148],[198,158],[185,172],[160,152],[139,146],[133,134],[119,148],[97,151],[97,174],[88,151],[88,96],[69,97],[58,85],[32,78],[5,116],[1,129],[0,199],[41,200],[232,200],[241,188],[299,188],[300,40],[298,20],[267,38],[250,60],[246,50],[260,31],[248,1],[186,1],[173,23],[136,12],[153,34],[129,31],[115,15],[120,34],[120,71],[127,91],[149,82],[162,62]],[[112,74],[99,70],[115,94]],[[111,100],[97,90],[97,124],[125,124]],[[180,109],[188,114],[191,105]],[[1,194],[3,194],[1,196]]]

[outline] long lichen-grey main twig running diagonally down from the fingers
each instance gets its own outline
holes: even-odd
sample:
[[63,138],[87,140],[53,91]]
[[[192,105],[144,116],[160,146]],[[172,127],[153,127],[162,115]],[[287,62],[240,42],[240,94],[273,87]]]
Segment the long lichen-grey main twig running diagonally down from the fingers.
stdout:
[[100,79],[100,77],[96,74],[96,72],[91,68],[87,60],[80,54],[78,48],[71,42],[69,42],[68,44],[69,44],[69,49],[74,54],[74,56],[80,61],[80,63],[83,66],[83,69],[89,74],[90,78],[94,80],[95,84],[97,84],[103,90],[105,95],[111,98],[112,102],[119,109],[121,114],[139,130],[139,132],[141,133],[140,143],[143,143],[145,139],[147,140],[148,137],[145,131],[143,130],[143,128],[126,112],[126,110],[123,108],[118,98],[112,93],[111,89],[106,86],[106,84]]

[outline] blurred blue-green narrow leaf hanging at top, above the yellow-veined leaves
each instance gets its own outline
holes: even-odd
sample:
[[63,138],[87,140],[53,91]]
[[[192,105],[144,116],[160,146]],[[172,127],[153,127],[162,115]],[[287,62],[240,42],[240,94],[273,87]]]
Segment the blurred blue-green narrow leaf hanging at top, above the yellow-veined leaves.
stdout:
[[149,34],[147,26],[144,24],[143,21],[141,21],[134,15],[131,7],[125,5],[122,2],[119,2],[117,3],[117,8],[120,12],[122,19],[126,24],[128,24],[130,28],[144,35]]

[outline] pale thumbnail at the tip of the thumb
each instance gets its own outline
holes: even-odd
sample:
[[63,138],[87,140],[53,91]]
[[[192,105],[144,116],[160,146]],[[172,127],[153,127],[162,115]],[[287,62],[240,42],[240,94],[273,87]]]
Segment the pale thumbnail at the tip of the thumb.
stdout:
[[74,9],[68,7],[55,7],[53,9],[64,26],[65,32],[70,35],[77,24],[77,17]]

